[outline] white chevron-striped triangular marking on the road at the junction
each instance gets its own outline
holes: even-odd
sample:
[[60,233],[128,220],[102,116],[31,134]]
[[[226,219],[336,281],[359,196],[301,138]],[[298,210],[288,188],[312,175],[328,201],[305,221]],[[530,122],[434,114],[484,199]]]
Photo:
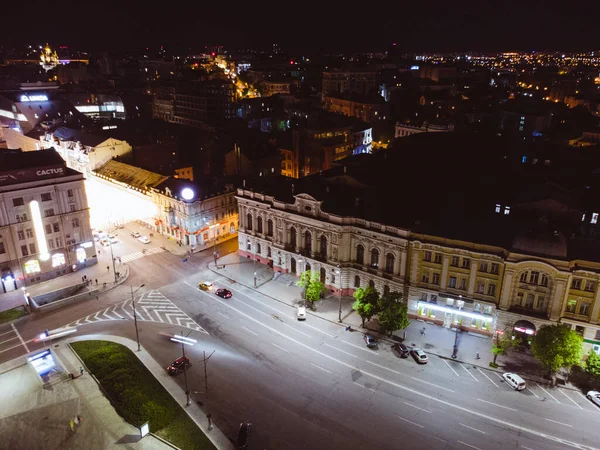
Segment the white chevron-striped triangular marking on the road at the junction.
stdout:
[[[89,316],[83,317],[75,322],[65,325],[63,328],[79,327],[89,323],[97,323],[107,320],[133,320],[133,304],[127,300],[118,305],[111,306]],[[135,315],[137,320],[146,322],[162,322],[170,325],[189,328],[201,333],[208,332],[198,325],[192,318],[171,302],[167,297],[157,290],[144,293],[135,302]]]

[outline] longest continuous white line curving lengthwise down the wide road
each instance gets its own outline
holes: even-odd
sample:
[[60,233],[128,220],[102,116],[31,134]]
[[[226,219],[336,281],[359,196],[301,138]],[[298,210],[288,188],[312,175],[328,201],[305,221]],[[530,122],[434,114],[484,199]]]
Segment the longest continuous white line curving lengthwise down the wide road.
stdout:
[[[238,314],[241,314],[241,315],[243,315],[243,316],[244,316],[244,317],[246,317],[248,320],[251,320],[252,322],[255,322],[256,324],[258,324],[258,325],[260,325],[260,326],[262,326],[262,327],[264,327],[264,328],[266,328],[266,329],[270,330],[272,333],[278,334],[278,335],[280,335],[281,337],[283,337],[284,339],[287,339],[287,340],[289,340],[289,341],[291,341],[291,342],[294,342],[295,344],[299,345],[300,347],[303,347],[303,348],[305,348],[305,349],[306,349],[307,351],[309,351],[309,352],[313,352],[313,353],[315,353],[315,354],[317,354],[317,355],[319,355],[319,356],[322,356],[322,357],[324,357],[324,358],[327,358],[327,359],[329,359],[329,360],[331,360],[331,361],[333,361],[333,362],[336,362],[336,363],[338,363],[339,365],[341,365],[341,366],[344,366],[344,367],[346,367],[346,368],[348,368],[348,369],[352,369],[352,370],[359,370],[359,371],[361,371],[359,368],[357,368],[357,367],[355,367],[355,366],[353,366],[353,365],[351,365],[351,364],[345,363],[345,362],[344,362],[344,361],[342,361],[342,360],[339,360],[339,359],[337,359],[337,358],[334,358],[333,356],[331,356],[331,355],[328,355],[327,353],[323,353],[322,351],[319,351],[318,349],[314,348],[314,347],[313,347],[313,346],[311,346],[311,345],[308,345],[308,344],[306,344],[306,343],[304,343],[304,342],[298,341],[298,340],[294,339],[294,338],[293,338],[293,337],[291,337],[291,336],[287,336],[287,335],[285,335],[284,333],[282,333],[282,332],[280,332],[280,331],[276,330],[276,329],[275,329],[275,328],[273,328],[273,327],[270,327],[269,325],[267,325],[267,324],[265,324],[265,323],[262,323],[262,322],[261,322],[261,321],[259,321],[258,319],[256,319],[256,318],[254,318],[254,317],[252,317],[252,316],[250,316],[250,315],[248,315],[248,314],[244,313],[243,311],[241,311],[241,310],[239,310],[239,309],[237,309],[237,308],[233,307],[232,305],[230,305],[230,304],[228,304],[228,303],[225,303],[225,302],[223,302],[223,301],[221,301],[221,300],[219,300],[219,299],[216,299],[216,301],[217,301],[217,302],[219,302],[219,303],[221,303],[223,306],[225,306],[225,307],[227,307],[227,308],[229,308],[229,309],[231,309],[231,310],[233,310],[233,311],[236,311]],[[312,363],[311,363],[311,364],[312,364]],[[507,422],[507,421],[505,421],[505,420],[502,420],[502,419],[499,419],[499,418],[497,418],[497,417],[493,417],[493,416],[489,416],[489,415],[487,415],[487,414],[483,414],[483,413],[480,413],[480,412],[477,412],[477,411],[473,411],[473,410],[471,410],[471,409],[469,409],[469,408],[467,408],[467,407],[465,407],[465,406],[460,406],[460,405],[457,405],[457,404],[456,404],[456,402],[454,402],[454,401],[450,402],[450,401],[443,400],[443,399],[441,399],[441,398],[439,398],[439,397],[436,397],[436,396],[433,396],[433,395],[426,394],[426,393],[424,393],[424,392],[422,392],[422,391],[420,391],[420,390],[417,390],[417,389],[412,389],[412,388],[409,388],[408,386],[404,386],[404,385],[402,385],[402,384],[400,384],[400,383],[394,382],[394,381],[392,381],[392,380],[388,380],[388,379],[386,379],[386,378],[383,378],[383,377],[381,377],[381,376],[379,376],[379,375],[372,374],[372,373],[369,373],[369,372],[365,372],[364,370],[363,370],[363,371],[361,371],[361,372],[362,372],[363,374],[365,374],[365,375],[368,375],[368,376],[370,376],[370,377],[372,377],[372,378],[374,378],[374,379],[378,380],[378,381],[381,381],[382,383],[387,383],[387,384],[389,384],[390,386],[394,386],[395,388],[397,388],[397,389],[400,389],[400,390],[402,390],[402,391],[410,392],[411,394],[414,394],[414,395],[417,395],[417,396],[420,396],[420,397],[426,398],[426,399],[428,399],[428,400],[431,400],[431,401],[434,401],[434,402],[440,403],[440,404],[442,404],[442,405],[445,405],[445,406],[447,406],[447,407],[449,407],[449,408],[453,408],[453,409],[456,409],[456,410],[459,410],[459,411],[465,412],[465,413],[467,413],[467,414],[471,414],[471,415],[473,415],[473,416],[480,417],[480,418],[482,418],[482,419],[488,420],[488,421],[490,421],[490,422],[495,422],[495,423],[497,423],[497,424],[500,424],[500,425],[503,425],[503,426],[506,426],[506,427],[513,428],[513,429],[515,429],[515,430],[518,430],[518,431],[520,431],[520,432],[523,432],[523,433],[529,433],[529,434],[532,434],[532,435],[534,435],[534,436],[538,436],[538,437],[541,437],[541,438],[544,438],[544,439],[548,439],[548,440],[550,440],[550,441],[553,441],[553,442],[558,442],[558,443],[561,443],[561,444],[563,444],[563,445],[567,445],[567,446],[569,446],[569,447],[577,448],[577,449],[579,449],[579,450],[598,450],[598,449],[596,449],[596,448],[594,448],[594,447],[590,447],[590,446],[587,446],[587,445],[578,444],[578,443],[575,443],[575,442],[572,442],[572,441],[568,441],[568,440],[566,440],[566,439],[561,439],[561,438],[558,438],[558,437],[556,437],[556,436],[552,436],[552,435],[550,435],[550,434],[542,433],[541,431],[536,431],[536,430],[534,430],[534,429],[527,428],[527,427],[525,427],[525,426],[522,426],[522,425],[518,425],[518,424],[516,424],[516,423]],[[422,381],[422,380],[419,380],[418,378],[414,378],[414,377],[411,377],[411,378],[413,378],[414,380],[417,380],[417,381]],[[428,383],[428,384],[429,384],[429,383]],[[439,387],[439,386],[437,386],[437,387]],[[446,389],[446,388],[443,388],[443,389]],[[452,391],[452,392],[454,392],[454,391]],[[507,407],[505,407],[505,406],[504,406],[503,408],[507,408]],[[507,409],[511,409],[511,408],[507,408]]]

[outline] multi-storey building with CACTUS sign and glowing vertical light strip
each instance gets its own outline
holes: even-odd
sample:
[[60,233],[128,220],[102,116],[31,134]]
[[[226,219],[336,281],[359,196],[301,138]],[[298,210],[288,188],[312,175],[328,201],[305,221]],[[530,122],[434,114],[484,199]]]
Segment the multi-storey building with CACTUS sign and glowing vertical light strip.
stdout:
[[0,153],[0,292],[96,263],[83,175],[53,149]]

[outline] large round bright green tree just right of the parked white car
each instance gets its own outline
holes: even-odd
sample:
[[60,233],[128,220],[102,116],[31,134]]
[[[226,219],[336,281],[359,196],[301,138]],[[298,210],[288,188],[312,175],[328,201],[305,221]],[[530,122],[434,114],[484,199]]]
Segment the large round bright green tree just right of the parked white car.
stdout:
[[531,351],[544,366],[556,384],[556,373],[563,367],[581,361],[581,343],[583,338],[566,325],[542,325],[533,337]]

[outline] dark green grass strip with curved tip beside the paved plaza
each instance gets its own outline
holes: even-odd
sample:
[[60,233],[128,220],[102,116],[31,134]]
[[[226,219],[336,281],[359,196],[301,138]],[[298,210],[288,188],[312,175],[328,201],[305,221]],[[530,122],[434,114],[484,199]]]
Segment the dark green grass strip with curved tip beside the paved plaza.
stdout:
[[135,426],[148,422],[152,433],[183,450],[216,449],[127,347],[108,341],[79,341],[71,346],[127,422]]

